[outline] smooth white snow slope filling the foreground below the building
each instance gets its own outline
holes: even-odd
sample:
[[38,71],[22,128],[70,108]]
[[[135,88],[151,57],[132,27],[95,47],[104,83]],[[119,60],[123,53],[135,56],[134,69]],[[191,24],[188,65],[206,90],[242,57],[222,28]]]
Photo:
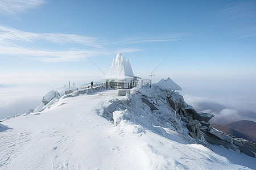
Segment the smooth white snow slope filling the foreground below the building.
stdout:
[[[256,169],[255,158],[195,144],[175,116],[169,117],[174,124],[164,124],[157,112],[141,109],[146,105],[140,96],[117,94],[67,97],[42,112],[1,122],[0,169]],[[112,103],[130,105],[114,113],[117,126],[104,117]],[[134,103],[140,105],[136,113]]]

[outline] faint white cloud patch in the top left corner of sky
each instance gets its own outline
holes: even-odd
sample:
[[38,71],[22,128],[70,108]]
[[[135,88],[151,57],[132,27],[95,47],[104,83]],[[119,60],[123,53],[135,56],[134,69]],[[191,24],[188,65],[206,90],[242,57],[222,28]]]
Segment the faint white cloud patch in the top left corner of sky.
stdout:
[[36,8],[46,3],[44,0],[6,0],[0,1],[0,14],[16,16],[31,8]]

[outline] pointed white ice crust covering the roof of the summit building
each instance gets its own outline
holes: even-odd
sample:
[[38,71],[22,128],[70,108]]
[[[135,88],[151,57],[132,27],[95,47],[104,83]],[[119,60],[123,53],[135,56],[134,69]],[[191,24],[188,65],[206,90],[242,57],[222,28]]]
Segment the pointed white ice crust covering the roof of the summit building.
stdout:
[[108,73],[102,78],[107,79],[119,79],[130,81],[134,78],[133,70],[131,69],[131,63],[129,59],[126,59],[121,53],[118,53],[115,59],[113,59],[112,66],[108,70]]

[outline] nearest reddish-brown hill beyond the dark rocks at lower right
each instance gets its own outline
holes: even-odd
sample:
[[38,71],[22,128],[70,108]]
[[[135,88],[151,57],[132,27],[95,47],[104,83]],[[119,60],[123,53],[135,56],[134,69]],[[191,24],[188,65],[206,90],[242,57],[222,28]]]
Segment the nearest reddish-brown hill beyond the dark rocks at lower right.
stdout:
[[256,123],[254,121],[242,120],[226,125],[211,123],[210,126],[234,137],[247,139],[256,143]]

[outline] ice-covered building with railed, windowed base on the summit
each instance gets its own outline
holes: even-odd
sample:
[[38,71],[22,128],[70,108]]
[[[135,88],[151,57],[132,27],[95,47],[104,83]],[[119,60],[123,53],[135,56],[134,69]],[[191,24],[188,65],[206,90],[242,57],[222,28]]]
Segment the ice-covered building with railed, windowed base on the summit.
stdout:
[[102,81],[106,82],[106,86],[110,88],[129,89],[139,84],[138,79],[141,78],[134,76],[130,60],[126,59],[121,53],[118,53]]

